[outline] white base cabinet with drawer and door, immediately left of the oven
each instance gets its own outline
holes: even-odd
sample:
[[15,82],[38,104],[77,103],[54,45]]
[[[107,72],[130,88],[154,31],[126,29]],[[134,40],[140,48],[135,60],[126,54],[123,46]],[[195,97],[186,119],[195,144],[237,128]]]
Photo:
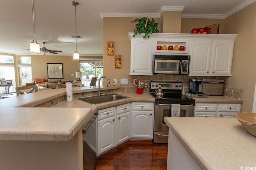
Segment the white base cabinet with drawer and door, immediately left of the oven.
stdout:
[[153,137],[154,103],[132,102],[131,138]]

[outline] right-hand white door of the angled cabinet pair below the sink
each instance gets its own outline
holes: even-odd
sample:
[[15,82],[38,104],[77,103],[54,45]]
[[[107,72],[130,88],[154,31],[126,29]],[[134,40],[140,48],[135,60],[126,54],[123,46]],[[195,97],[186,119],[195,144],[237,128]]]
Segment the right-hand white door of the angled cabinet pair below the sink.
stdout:
[[128,111],[116,115],[116,145],[130,139],[130,114]]

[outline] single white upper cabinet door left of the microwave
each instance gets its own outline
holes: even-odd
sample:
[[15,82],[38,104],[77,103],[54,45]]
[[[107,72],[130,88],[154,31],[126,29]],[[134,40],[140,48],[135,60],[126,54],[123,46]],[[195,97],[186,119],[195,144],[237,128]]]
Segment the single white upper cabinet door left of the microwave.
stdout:
[[150,39],[132,39],[130,75],[153,75],[152,57],[152,41]]

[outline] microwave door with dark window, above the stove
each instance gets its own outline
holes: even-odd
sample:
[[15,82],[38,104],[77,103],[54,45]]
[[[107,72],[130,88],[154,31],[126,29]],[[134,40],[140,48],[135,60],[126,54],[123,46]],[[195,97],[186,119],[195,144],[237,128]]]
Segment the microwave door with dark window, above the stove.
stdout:
[[180,60],[160,60],[154,61],[155,74],[179,74]]

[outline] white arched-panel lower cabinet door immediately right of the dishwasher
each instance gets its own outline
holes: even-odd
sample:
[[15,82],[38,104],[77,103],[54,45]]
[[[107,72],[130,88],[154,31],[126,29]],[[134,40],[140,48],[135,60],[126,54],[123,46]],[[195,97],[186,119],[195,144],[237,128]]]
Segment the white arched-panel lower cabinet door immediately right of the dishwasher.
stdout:
[[115,116],[98,121],[97,156],[116,146]]

